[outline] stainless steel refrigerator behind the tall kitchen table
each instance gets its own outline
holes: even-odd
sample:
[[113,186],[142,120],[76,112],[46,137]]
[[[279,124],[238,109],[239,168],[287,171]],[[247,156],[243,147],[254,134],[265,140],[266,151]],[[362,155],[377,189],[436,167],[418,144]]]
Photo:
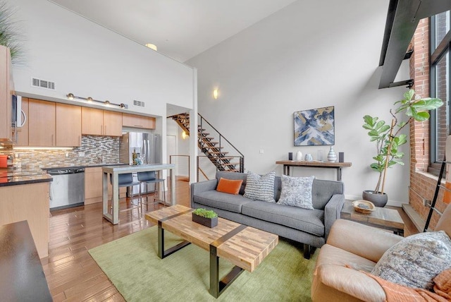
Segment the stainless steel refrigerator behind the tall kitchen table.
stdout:
[[[141,164],[161,164],[161,135],[147,132],[123,133],[119,140],[119,159],[121,162],[133,164],[132,154],[136,152]],[[160,175],[161,177],[161,175]],[[133,176],[137,181],[137,175]],[[141,192],[146,193],[146,185],[141,184]],[[140,191],[140,186],[133,186],[133,194]],[[147,192],[155,191],[154,183],[147,185]]]

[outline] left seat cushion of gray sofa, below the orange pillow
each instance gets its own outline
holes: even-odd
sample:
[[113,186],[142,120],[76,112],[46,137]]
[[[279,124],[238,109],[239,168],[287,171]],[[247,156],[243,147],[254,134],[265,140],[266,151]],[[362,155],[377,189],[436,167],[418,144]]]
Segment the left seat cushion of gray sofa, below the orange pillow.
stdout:
[[205,191],[193,196],[194,203],[216,207],[217,209],[241,213],[242,205],[252,203],[252,200],[243,195],[231,195],[218,191]]

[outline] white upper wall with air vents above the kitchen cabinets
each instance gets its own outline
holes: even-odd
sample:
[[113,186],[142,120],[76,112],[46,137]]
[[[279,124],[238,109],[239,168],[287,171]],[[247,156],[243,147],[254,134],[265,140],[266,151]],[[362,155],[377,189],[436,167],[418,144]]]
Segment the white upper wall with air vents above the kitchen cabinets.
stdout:
[[[46,0],[7,0],[24,35],[25,61],[14,66],[16,90],[42,99],[81,97],[128,104],[166,118],[166,103],[193,107],[193,70]],[[56,91],[31,78],[56,82]],[[135,107],[132,101],[145,102]],[[166,127],[166,123],[165,126]]]

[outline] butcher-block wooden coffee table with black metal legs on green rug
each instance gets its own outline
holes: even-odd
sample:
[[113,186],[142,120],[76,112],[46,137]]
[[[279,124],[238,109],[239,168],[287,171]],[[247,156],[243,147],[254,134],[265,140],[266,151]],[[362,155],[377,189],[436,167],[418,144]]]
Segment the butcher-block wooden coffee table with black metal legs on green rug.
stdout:
[[[173,205],[149,212],[146,219],[158,224],[158,255],[165,258],[190,243],[210,252],[210,294],[215,298],[238,277],[242,270],[253,272],[278,244],[278,236],[218,218],[218,226],[204,227],[192,222],[192,211],[183,205]],[[164,249],[164,231],[185,239],[177,246]],[[219,280],[219,257],[235,267]]]

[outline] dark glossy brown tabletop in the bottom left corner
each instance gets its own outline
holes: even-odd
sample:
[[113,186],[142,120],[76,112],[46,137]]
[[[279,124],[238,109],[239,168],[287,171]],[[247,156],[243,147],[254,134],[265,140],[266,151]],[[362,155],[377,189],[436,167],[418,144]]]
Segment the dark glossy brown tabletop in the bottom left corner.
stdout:
[[0,227],[0,301],[52,301],[26,221]]

